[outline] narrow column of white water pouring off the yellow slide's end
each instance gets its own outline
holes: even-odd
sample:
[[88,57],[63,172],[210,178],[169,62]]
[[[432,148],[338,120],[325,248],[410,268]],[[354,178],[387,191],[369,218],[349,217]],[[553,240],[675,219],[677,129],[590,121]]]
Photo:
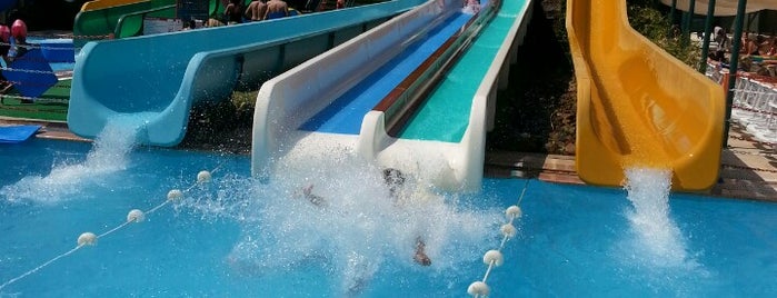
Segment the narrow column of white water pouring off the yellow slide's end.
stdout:
[[637,237],[635,245],[653,266],[685,264],[687,251],[680,229],[670,218],[671,171],[626,169],[626,190],[634,207],[627,217]]

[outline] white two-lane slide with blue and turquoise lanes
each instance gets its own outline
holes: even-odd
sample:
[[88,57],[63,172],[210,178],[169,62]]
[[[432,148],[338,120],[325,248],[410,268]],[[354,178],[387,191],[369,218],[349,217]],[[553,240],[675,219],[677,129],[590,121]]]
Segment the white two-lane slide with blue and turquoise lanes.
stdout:
[[[432,0],[262,85],[251,170],[350,150],[450,190],[479,190],[496,90],[531,1]],[[316,82],[316,83],[310,83]]]

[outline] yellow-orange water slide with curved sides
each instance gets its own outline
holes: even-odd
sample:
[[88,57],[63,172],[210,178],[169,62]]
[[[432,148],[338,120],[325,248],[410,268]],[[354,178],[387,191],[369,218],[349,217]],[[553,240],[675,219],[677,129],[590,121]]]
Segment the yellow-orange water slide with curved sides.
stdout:
[[711,188],[723,145],[720,86],[635,31],[625,0],[568,0],[567,32],[580,178],[620,186],[625,168],[651,167],[670,169],[675,190]]

